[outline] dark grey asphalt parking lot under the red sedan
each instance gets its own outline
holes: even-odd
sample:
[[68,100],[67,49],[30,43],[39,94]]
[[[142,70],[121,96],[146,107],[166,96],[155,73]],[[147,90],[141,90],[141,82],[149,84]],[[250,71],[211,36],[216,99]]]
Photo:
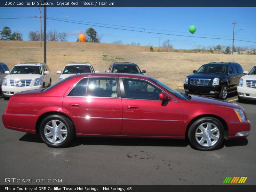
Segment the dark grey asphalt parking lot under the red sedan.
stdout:
[[[186,140],[131,138],[77,138],[68,148],[49,148],[37,135],[4,128],[1,118],[0,184],[222,185],[226,177],[248,177],[244,185],[255,185],[256,102],[239,103],[236,97],[227,100],[245,109],[250,136],[207,152]],[[1,114],[7,103],[0,99]],[[11,177],[62,182],[6,183]]]

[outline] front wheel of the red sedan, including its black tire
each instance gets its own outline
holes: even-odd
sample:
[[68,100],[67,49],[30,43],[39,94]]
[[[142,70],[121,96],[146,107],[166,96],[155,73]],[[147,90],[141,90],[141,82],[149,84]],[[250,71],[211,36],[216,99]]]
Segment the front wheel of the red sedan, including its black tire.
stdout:
[[[210,129],[207,129],[208,127]],[[206,128],[204,132],[201,131],[203,128]],[[201,135],[202,137],[200,137]],[[198,150],[215,150],[222,146],[224,140],[224,127],[222,123],[214,117],[202,117],[189,127],[188,139],[191,145]],[[211,143],[211,145],[209,143]]]

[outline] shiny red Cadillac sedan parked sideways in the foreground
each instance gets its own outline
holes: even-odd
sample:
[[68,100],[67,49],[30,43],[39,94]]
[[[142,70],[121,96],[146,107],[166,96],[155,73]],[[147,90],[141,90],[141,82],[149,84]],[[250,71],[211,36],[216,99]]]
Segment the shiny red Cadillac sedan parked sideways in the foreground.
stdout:
[[[131,82],[147,89],[133,90]],[[188,137],[194,148],[213,150],[224,138],[250,131],[239,105],[181,94],[149,76],[113,73],[70,76],[49,88],[16,93],[2,118],[6,128],[38,133],[50,147],[67,146],[75,135]]]

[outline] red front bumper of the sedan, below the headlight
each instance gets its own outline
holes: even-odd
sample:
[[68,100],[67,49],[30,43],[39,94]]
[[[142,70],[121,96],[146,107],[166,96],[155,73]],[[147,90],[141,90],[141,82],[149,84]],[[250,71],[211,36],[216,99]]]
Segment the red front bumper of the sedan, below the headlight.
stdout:
[[240,134],[241,132],[250,132],[250,121],[230,122],[228,124],[228,139],[247,137],[249,134]]

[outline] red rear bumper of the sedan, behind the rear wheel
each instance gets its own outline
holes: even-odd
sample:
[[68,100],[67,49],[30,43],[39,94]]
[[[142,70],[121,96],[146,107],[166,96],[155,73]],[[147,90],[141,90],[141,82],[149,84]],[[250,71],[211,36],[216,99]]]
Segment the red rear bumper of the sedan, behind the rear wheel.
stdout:
[[37,115],[23,115],[4,113],[2,115],[3,124],[7,129],[16,131],[36,133]]

